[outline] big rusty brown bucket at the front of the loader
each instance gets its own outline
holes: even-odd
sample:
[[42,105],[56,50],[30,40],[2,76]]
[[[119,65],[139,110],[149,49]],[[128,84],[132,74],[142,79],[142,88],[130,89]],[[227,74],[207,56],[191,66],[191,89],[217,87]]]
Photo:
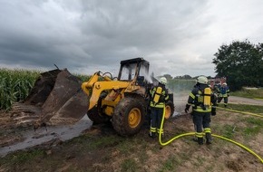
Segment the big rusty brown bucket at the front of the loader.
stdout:
[[82,81],[66,69],[44,72],[24,103],[15,104],[13,111],[21,123],[32,117],[32,122],[37,123],[73,124],[88,109],[88,97],[81,85]]

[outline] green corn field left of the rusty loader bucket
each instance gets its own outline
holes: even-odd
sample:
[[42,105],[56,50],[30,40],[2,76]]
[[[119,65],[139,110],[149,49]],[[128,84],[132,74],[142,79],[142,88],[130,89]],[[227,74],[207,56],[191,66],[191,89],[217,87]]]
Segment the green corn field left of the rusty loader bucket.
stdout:
[[10,110],[14,102],[24,100],[39,75],[37,71],[0,69],[0,110]]

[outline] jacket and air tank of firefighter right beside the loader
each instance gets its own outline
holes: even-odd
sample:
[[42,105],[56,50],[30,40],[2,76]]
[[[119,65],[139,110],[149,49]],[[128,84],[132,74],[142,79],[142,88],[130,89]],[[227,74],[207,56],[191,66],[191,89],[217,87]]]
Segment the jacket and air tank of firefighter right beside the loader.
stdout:
[[165,88],[165,85],[159,84],[156,87],[153,87],[150,90],[151,102],[150,106],[155,108],[163,108],[165,102],[169,100],[168,91]]

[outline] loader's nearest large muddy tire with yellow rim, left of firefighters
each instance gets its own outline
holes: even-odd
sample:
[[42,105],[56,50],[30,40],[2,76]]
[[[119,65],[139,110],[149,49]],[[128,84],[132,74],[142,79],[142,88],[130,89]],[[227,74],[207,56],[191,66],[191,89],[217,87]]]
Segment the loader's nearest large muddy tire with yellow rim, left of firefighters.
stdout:
[[125,97],[116,106],[112,126],[121,136],[137,134],[144,123],[146,106],[139,96]]

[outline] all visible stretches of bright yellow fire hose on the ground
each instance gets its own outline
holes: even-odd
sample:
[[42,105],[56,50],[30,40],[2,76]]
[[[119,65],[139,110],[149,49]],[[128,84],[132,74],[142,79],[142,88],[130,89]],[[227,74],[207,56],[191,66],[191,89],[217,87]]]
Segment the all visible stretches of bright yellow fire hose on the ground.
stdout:
[[[228,109],[225,109],[225,110],[228,110]],[[238,110],[231,110],[231,111],[239,112]],[[242,113],[245,113],[245,112],[242,112]],[[162,119],[161,119],[161,129],[160,129],[160,130],[163,129],[164,114],[165,114],[165,108],[163,108],[163,114],[162,114]],[[252,115],[253,113],[249,113],[249,112],[248,112],[248,114],[249,114],[249,115]],[[255,115],[255,114],[254,114],[254,115]],[[257,114],[256,114],[256,115],[257,115]],[[258,115],[257,115],[257,116],[258,116]],[[260,115],[259,115],[259,116],[260,116]],[[260,116],[260,117],[262,117],[262,116]],[[195,135],[195,132],[189,132],[189,133],[180,134],[180,135],[178,135],[178,136],[176,136],[176,137],[168,140],[167,142],[162,142],[162,140],[161,140],[161,132],[160,132],[160,133],[159,133],[159,143],[161,144],[161,146],[166,146],[166,145],[170,144],[170,142],[172,142],[172,141],[175,140],[175,139],[179,139],[179,138],[184,137],[184,136],[192,136],[192,135]],[[258,156],[258,154],[256,154],[256,153],[255,153],[254,151],[252,151],[251,149],[245,147],[244,145],[240,144],[239,142],[236,142],[236,141],[234,141],[234,140],[232,140],[232,139],[227,139],[227,138],[225,138],[225,137],[222,137],[222,136],[219,136],[219,135],[215,135],[215,134],[212,134],[212,136],[213,136],[213,137],[216,137],[216,138],[219,138],[219,139],[225,139],[225,140],[227,140],[227,141],[229,141],[229,142],[231,142],[231,143],[234,143],[234,144],[238,145],[240,148],[244,148],[244,149],[247,150],[250,154],[252,154],[253,156],[257,157],[257,158],[261,161],[261,163],[263,164],[263,159],[260,158],[260,157]]]

